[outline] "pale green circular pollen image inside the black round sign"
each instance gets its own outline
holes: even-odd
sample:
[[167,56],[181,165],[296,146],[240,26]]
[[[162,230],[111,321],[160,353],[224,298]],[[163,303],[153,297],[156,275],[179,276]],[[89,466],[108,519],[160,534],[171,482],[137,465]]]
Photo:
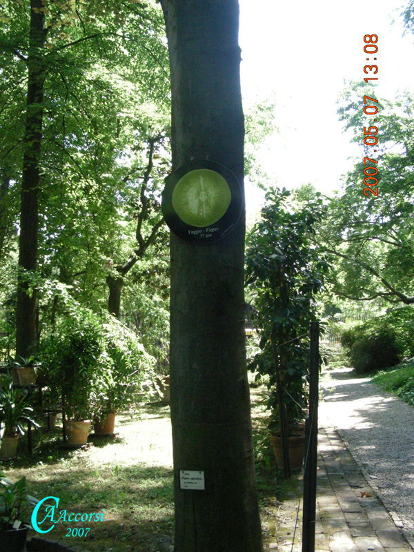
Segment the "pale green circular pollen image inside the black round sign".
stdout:
[[231,192],[226,180],[215,170],[190,170],[172,192],[172,206],[190,226],[211,226],[226,213]]

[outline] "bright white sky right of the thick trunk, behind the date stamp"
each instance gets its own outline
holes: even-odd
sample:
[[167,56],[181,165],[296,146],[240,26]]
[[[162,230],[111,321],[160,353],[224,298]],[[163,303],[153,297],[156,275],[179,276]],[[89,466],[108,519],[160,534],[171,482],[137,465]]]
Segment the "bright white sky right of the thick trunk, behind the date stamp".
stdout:
[[[395,11],[404,0],[239,3],[243,95],[261,99],[275,92],[278,101],[280,133],[264,144],[262,164],[279,186],[312,182],[330,195],[353,165],[348,158],[362,157],[336,114],[344,79],[378,77],[377,95],[391,101],[398,88],[414,90],[414,36],[402,38],[402,18]],[[364,52],[365,34],[378,35],[377,54]],[[364,75],[364,66],[374,63],[377,74]],[[380,137],[380,117],[377,125]],[[248,212],[257,209],[261,196],[247,183]]]

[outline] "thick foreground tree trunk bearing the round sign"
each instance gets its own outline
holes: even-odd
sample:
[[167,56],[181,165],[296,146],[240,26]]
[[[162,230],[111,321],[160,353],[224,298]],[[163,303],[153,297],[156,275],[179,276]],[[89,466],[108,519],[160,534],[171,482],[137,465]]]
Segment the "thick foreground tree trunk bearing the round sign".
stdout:
[[[244,178],[237,0],[161,0],[172,81],[172,166]],[[171,235],[170,366],[175,550],[261,552],[244,332],[244,213],[221,241]],[[179,470],[205,490],[180,489]]]

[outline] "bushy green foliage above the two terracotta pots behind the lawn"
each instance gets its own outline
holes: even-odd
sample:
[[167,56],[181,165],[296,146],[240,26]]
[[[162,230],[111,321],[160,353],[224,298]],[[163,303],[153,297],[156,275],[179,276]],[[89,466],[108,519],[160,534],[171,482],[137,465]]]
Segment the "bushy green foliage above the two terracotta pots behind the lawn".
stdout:
[[133,400],[154,359],[135,333],[103,311],[66,298],[55,333],[43,340],[46,377],[69,419],[85,420],[124,408]]

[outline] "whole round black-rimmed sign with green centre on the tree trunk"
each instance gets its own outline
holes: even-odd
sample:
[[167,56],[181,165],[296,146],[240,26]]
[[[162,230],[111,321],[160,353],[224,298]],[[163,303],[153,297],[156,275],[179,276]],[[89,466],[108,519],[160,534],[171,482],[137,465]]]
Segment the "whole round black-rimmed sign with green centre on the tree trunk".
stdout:
[[162,212],[175,235],[187,242],[208,244],[233,229],[242,213],[239,181],[213,161],[193,161],[166,177]]

